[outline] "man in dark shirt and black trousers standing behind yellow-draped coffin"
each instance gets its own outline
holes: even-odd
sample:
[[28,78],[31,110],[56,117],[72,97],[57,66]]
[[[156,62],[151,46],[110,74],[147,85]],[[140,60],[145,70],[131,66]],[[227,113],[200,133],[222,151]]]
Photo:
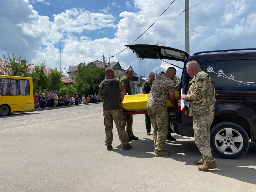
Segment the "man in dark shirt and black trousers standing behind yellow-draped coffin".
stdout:
[[[151,87],[152,87],[152,83],[156,78],[156,74],[153,72],[150,72],[148,74],[148,80],[145,81],[142,85],[142,94],[148,94],[150,93]],[[147,130],[147,135],[150,135],[151,132],[151,121],[150,121],[150,117],[148,116],[148,114],[145,114],[145,121],[146,121],[146,130]]]

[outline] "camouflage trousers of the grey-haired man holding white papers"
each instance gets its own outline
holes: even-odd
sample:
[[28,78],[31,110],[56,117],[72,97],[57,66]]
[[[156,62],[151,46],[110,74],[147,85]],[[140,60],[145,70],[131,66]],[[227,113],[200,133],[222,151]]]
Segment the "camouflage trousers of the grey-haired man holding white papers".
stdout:
[[215,159],[211,154],[210,147],[210,128],[214,118],[214,112],[204,116],[193,116],[193,128],[195,135],[195,143],[206,162],[212,163]]

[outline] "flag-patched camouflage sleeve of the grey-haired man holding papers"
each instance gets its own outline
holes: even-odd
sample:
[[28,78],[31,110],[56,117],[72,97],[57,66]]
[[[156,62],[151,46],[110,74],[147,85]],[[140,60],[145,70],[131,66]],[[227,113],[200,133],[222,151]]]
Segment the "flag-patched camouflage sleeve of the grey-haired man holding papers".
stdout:
[[199,74],[198,77],[196,77],[193,83],[195,84],[194,90],[191,93],[187,94],[184,98],[187,101],[193,101],[204,97],[206,87],[205,85],[208,83],[208,78],[202,73]]

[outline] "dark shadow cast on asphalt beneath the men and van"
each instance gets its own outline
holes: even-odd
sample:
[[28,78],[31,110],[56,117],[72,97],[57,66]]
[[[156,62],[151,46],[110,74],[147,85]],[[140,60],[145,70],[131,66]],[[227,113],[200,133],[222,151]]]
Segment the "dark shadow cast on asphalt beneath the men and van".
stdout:
[[[183,138],[177,135],[174,135],[174,137]],[[130,144],[133,146],[132,149],[124,151],[122,144],[120,144],[116,147],[119,150],[113,149],[113,151],[130,157],[155,157],[153,154],[154,148],[152,139],[144,138],[144,140],[130,141]],[[188,141],[166,141],[166,151],[170,152],[172,155],[161,158],[172,158],[179,162],[185,162],[186,165],[194,165],[195,169],[197,169],[197,165],[194,164],[194,161],[201,158],[201,153],[195,142],[190,140],[190,138],[188,138]],[[218,169],[209,170],[208,172],[234,178],[246,183],[256,184],[256,144],[250,144],[247,153],[239,159],[214,157],[216,158]]]

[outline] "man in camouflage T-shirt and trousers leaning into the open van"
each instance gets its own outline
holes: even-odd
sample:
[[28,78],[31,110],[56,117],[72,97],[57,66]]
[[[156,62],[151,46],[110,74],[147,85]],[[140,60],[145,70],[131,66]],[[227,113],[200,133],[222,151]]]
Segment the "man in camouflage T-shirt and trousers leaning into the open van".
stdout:
[[152,87],[147,100],[147,111],[153,125],[153,137],[155,156],[169,156],[165,151],[165,142],[168,132],[168,112],[166,104],[168,99],[176,107],[175,77],[176,69],[169,67],[164,75],[158,76]]

